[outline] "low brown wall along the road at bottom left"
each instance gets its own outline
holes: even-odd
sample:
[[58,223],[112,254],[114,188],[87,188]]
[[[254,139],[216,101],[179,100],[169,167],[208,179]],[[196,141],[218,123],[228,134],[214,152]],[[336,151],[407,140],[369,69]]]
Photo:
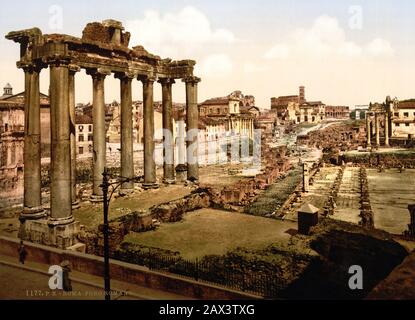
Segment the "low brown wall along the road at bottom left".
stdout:
[[[19,240],[7,237],[0,237],[0,253],[7,256],[18,256]],[[27,260],[43,263],[47,265],[59,265],[63,260],[70,262],[72,270],[103,276],[104,259],[101,257],[60,250],[33,243],[25,244],[27,250]],[[145,267],[115,261],[110,261],[111,279],[134,283],[147,288],[163,290],[195,299],[258,299],[259,297],[221,288],[189,279],[175,277],[150,271]]]

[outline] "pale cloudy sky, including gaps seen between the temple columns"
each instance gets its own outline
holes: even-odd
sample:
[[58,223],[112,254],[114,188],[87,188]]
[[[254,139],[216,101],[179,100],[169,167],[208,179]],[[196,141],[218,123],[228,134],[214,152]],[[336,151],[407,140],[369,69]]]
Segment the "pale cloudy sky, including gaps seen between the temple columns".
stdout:
[[[199,100],[233,90],[253,94],[259,107],[270,97],[296,94],[326,104],[380,101],[386,95],[415,98],[415,2],[399,1],[14,1],[1,0],[0,86],[23,90],[11,30],[37,26],[44,33],[81,36],[88,22],[123,22],[132,38],[151,53],[195,59],[202,78]],[[41,91],[47,93],[43,71]],[[92,97],[92,80],[77,76],[77,101]],[[136,82],[133,98],[141,98]],[[184,101],[178,83],[174,100]],[[155,86],[155,98],[161,88]],[[118,80],[107,78],[106,99],[119,100]]]

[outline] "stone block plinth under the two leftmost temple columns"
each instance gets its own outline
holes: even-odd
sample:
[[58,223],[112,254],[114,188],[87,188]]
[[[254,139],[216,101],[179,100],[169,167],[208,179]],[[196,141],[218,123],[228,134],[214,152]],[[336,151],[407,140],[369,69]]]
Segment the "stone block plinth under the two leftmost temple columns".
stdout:
[[78,243],[80,223],[73,217],[65,219],[26,220],[20,226],[20,238],[25,241],[67,249]]

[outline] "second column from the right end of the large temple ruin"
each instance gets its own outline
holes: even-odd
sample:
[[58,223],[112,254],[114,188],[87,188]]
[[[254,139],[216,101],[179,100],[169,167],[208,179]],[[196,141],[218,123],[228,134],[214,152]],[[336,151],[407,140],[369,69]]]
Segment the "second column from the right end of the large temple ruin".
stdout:
[[163,104],[163,182],[173,184],[174,177],[174,140],[173,140],[173,100],[172,84],[174,79],[161,79]]

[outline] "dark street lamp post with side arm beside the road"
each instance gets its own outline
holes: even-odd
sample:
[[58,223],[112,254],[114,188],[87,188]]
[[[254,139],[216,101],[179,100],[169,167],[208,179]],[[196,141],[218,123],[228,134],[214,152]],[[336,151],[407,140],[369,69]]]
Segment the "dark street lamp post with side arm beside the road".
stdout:
[[[116,182],[110,182],[110,174],[108,169],[105,167],[104,172],[102,173],[102,184],[100,187],[102,188],[103,198],[104,198],[104,290],[105,290],[105,300],[111,300],[111,281],[110,281],[110,248],[109,248],[109,223],[108,223],[108,213],[109,213],[109,205],[111,202],[111,198],[114,192],[122,186],[125,182],[135,181],[138,182],[141,177],[134,177],[134,178],[125,178],[125,177],[118,177]],[[109,187],[112,187],[111,193],[109,192]]]

